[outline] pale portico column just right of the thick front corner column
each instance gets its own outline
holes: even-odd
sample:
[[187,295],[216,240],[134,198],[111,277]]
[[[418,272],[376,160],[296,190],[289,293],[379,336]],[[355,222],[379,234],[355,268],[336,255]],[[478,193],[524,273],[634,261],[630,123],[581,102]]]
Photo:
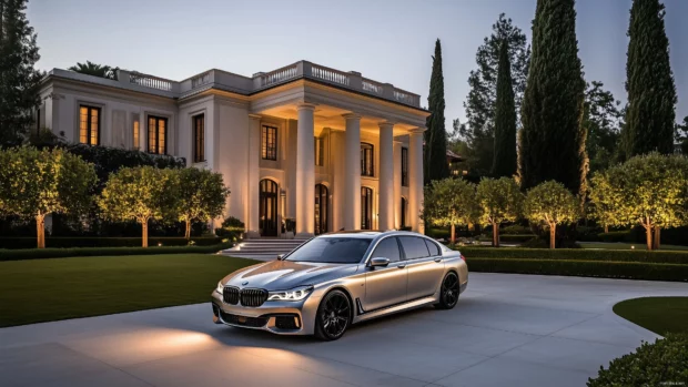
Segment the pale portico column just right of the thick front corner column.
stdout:
[[361,115],[344,114],[344,228],[361,228]]

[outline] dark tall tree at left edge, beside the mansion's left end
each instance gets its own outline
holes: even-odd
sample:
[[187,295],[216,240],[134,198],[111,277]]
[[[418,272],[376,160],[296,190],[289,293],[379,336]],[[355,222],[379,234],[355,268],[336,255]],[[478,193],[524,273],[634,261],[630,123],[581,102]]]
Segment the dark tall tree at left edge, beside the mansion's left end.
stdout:
[[20,143],[40,104],[41,57],[26,10],[27,0],[0,0],[0,144]]

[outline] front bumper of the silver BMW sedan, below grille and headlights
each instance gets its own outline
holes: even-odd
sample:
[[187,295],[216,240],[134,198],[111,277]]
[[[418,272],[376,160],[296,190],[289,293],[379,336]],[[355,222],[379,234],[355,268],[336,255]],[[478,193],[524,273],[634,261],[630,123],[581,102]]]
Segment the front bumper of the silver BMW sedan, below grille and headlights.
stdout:
[[224,303],[220,293],[212,293],[213,323],[279,335],[312,335],[318,305],[320,297],[314,294],[300,302],[270,301],[247,307]]

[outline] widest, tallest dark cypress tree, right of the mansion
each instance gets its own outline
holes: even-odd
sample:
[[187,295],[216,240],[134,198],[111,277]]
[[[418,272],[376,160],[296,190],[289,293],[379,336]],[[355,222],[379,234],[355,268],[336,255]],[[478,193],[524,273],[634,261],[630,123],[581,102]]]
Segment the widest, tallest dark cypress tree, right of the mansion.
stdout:
[[586,131],[574,0],[538,0],[533,55],[523,102],[518,173],[522,189],[555,180],[585,191]]

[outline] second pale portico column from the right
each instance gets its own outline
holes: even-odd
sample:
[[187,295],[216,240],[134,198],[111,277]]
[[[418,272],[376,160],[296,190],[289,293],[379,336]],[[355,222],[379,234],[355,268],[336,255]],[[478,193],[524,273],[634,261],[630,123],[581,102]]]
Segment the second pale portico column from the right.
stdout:
[[380,123],[380,185],[377,205],[380,230],[394,228],[394,123]]

